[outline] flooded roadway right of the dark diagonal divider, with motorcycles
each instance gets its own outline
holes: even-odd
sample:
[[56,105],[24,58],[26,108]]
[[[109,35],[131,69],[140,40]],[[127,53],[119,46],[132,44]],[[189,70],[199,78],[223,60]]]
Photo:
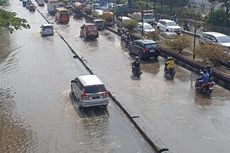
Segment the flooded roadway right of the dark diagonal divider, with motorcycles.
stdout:
[[119,37],[105,30],[97,41],[84,41],[79,37],[84,22],[71,19],[68,26],[55,26],[128,112],[139,116],[135,120],[156,145],[175,153],[229,152],[229,91],[215,86],[210,98],[196,94],[197,76],[180,66],[176,67],[175,79],[167,81],[162,58],[143,62],[141,80],[133,80],[133,58]]

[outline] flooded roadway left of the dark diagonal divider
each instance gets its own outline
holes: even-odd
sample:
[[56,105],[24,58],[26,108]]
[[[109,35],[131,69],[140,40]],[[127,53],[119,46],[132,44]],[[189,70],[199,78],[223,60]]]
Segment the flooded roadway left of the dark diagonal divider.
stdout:
[[0,153],[153,152],[111,100],[79,111],[70,81],[88,72],[56,33],[40,36],[38,12],[10,3],[31,29],[1,40]]

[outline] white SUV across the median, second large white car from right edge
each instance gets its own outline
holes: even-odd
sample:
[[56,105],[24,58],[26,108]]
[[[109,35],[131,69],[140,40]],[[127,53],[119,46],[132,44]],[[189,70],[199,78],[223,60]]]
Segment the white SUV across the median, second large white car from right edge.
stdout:
[[160,19],[157,22],[156,27],[163,32],[175,32],[176,34],[180,35],[181,34],[181,27],[172,20],[168,19]]

